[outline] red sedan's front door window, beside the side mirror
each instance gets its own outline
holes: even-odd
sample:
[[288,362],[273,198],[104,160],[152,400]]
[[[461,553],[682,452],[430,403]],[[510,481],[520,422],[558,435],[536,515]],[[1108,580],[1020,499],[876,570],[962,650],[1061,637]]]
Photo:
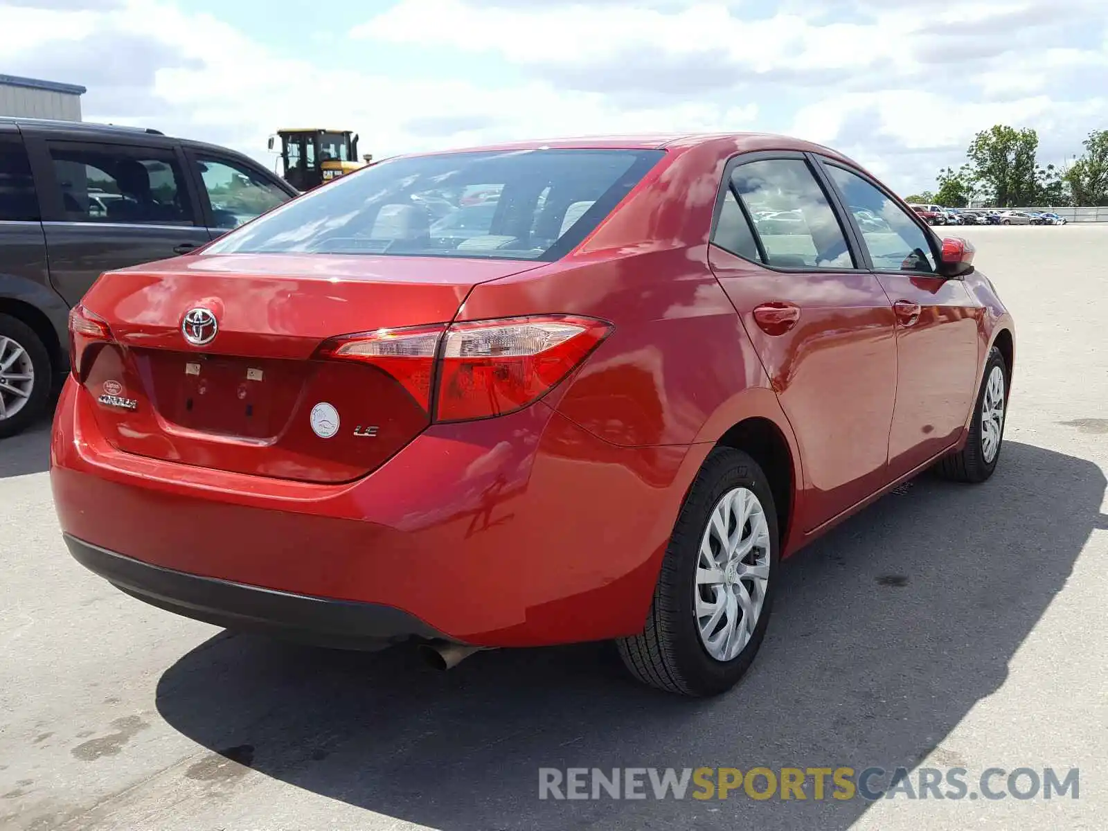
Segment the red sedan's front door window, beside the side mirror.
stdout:
[[874,268],[934,273],[935,255],[927,237],[900,205],[843,167],[825,168],[854,215]]

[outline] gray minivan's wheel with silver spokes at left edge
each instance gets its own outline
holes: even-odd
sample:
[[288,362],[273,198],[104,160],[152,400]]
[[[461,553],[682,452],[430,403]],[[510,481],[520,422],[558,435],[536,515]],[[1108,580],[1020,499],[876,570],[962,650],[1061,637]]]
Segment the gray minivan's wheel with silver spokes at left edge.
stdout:
[[50,355],[34,330],[0,315],[0,439],[24,430],[50,398]]

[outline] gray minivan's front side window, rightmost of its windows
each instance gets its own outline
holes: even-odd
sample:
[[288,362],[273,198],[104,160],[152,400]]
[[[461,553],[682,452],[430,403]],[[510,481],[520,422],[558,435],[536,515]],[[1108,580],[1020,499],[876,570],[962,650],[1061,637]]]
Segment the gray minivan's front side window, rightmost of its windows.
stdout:
[[187,146],[185,158],[199,194],[201,216],[212,239],[295,196],[276,176],[244,160]]

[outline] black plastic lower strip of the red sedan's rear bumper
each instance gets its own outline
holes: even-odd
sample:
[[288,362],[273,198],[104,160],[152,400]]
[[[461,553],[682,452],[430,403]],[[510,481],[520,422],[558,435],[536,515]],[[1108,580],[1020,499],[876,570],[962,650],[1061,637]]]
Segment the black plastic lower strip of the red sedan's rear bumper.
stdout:
[[276,592],[162,568],[65,535],[70,554],[116,588],[153,606],[232,629],[345,649],[378,649],[409,637],[444,638],[391,606]]

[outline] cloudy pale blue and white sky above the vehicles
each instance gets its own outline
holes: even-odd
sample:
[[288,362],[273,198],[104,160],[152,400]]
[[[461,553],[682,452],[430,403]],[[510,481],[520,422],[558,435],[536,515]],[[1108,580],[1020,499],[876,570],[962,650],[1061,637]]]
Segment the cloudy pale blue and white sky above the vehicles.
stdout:
[[0,0],[0,72],[86,85],[89,120],[268,161],[315,123],[379,156],[757,130],[909,193],[995,123],[1056,164],[1108,127],[1104,0]]

